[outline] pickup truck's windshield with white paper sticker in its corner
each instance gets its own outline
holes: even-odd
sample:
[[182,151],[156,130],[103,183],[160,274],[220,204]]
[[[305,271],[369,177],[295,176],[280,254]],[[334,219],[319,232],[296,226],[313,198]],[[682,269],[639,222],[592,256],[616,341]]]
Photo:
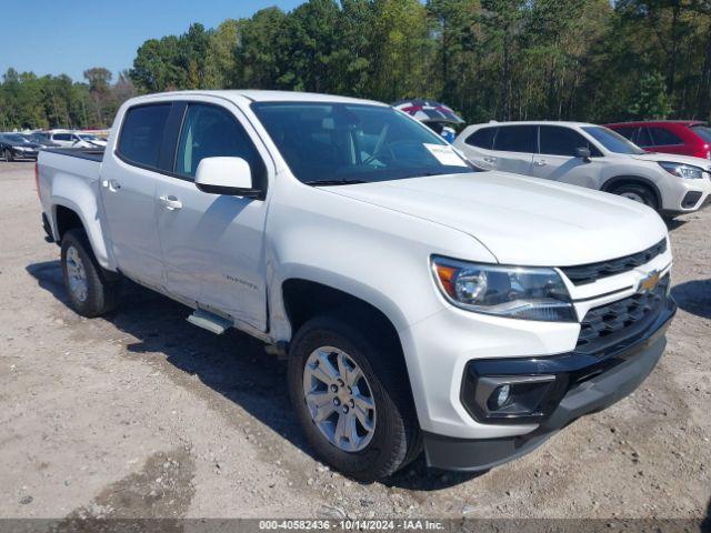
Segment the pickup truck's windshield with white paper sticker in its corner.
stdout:
[[440,137],[392,108],[264,102],[252,109],[304,183],[474,172]]

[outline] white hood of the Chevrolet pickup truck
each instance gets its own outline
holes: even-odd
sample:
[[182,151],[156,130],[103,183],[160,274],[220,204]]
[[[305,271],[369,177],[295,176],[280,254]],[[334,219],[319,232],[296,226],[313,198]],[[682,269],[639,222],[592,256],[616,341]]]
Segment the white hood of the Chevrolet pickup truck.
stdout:
[[568,266],[605,261],[642,251],[667,235],[653,210],[625,198],[503,172],[328,190],[463,231],[505,264]]

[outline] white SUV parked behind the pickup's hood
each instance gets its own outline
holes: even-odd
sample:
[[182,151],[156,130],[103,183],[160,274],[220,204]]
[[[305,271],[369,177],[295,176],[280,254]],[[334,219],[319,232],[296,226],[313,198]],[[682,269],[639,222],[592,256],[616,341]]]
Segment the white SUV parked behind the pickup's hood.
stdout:
[[454,147],[477,167],[620,194],[665,217],[697,211],[711,193],[709,161],[647,153],[584,122],[490,122],[465,128]]

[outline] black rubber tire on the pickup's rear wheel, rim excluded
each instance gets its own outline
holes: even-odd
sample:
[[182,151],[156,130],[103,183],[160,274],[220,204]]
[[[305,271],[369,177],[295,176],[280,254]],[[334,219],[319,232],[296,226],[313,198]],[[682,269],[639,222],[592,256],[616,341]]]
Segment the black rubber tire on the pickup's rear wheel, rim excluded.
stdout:
[[[70,286],[68,254],[76,250],[86,274],[86,298],[81,299]],[[118,274],[104,271],[91,251],[84,230],[73,229],[62,237],[62,278],[70,306],[82,316],[94,318],[113,311],[119,303],[121,280]]]

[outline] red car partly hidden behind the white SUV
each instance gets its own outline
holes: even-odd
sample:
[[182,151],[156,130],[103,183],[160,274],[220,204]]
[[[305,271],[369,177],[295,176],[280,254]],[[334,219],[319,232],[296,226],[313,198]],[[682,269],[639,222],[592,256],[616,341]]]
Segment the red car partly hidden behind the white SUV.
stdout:
[[607,124],[648,152],[711,159],[711,128],[694,120],[660,120]]

